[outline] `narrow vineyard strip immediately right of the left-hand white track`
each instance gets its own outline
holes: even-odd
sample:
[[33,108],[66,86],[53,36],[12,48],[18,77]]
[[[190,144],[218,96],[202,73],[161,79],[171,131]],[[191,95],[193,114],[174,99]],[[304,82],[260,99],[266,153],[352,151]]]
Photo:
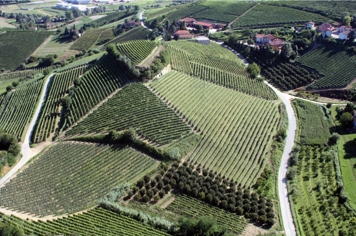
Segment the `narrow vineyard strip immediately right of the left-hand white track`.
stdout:
[[61,117],[61,99],[65,96],[66,90],[73,83],[73,80],[82,75],[85,70],[87,70],[86,65],[74,67],[52,76],[46,100],[32,133],[31,140],[33,143],[46,141],[55,131]]

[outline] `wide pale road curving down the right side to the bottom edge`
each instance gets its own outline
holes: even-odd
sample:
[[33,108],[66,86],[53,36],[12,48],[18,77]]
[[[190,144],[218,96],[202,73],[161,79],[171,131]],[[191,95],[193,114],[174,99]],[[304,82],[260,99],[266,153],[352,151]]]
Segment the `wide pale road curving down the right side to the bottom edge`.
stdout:
[[288,114],[288,123],[289,123],[288,135],[285,142],[284,152],[281,160],[281,166],[278,172],[278,191],[279,191],[279,201],[281,203],[282,219],[283,219],[285,233],[287,236],[296,236],[292,212],[290,210],[289,196],[288,196],[288,189],[287,189],[288,162],[289,162],[291,151],[293,149],[295,132],[296,132],[295,114],[292,105],[290,104],[289,101],[291,96],[280,92],[279,90],[277,90],[277,88],[272,86],[267,81],[264,81],[264,83],[270,86],[272,90],[277,94],[277,96],[282,100]]

